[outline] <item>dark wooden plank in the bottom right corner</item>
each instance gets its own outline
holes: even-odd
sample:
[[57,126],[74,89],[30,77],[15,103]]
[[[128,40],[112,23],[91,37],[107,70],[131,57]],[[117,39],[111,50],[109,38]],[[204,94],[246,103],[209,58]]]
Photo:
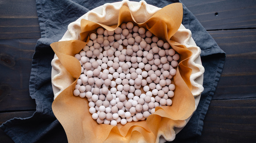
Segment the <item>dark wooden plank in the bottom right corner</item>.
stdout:
[[198,142],[253,142],[255,134],[256,98],[212,100]]

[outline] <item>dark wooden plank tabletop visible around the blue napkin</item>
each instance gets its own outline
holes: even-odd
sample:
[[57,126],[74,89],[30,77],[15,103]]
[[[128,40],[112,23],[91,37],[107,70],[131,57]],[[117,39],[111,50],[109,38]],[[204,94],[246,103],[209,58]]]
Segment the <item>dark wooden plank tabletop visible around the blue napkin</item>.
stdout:
[[[198,142],[256,139],[256,1],[182,0],[226,52]],[[0,2],[0,124],[32,116],[32,56],[40,28],[34,0]],[[0,142],[13,142],[0,130]]]

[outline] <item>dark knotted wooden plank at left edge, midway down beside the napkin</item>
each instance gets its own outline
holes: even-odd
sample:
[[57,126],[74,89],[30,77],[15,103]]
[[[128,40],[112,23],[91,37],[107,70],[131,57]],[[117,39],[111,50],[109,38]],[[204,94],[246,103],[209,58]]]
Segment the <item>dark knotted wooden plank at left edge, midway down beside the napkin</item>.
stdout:
[[0,40],[0,112],[35,109],[35,101],[29,94],[29,79],[36,41]]

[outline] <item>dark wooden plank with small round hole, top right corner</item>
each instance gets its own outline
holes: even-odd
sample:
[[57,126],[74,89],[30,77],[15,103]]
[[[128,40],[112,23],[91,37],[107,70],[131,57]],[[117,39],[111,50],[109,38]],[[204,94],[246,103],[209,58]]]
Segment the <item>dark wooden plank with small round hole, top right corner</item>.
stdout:
[[[181,0],[206,30],[256,27],[252,0]],[[218,13],[218,16],[215,16]]]

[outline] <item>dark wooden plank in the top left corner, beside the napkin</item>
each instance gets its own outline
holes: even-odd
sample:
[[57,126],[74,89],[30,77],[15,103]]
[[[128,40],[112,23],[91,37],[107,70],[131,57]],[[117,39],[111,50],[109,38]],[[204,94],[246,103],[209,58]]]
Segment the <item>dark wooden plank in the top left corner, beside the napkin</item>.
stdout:
[[0,9],[0,39],[41,37],[34,0],[4,0]]

